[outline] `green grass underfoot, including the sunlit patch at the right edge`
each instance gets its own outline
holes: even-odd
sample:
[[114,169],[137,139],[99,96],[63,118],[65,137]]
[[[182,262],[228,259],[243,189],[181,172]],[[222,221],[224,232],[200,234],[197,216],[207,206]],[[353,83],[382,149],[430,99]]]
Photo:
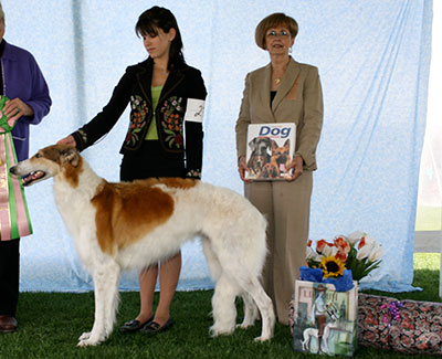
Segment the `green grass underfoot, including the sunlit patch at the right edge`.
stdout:
[[[382,293],[399,299],[440,302],[439,254],[414,255],[414,285],[423,292]],[[256,324],[248,330],[235,330],[232,336],[210,338],[208,329],[212,291],[178,292],[172,304],[175,326],[158,336],[122,334],[118,328],[135,317],[139,306],[138,293],[122,293],[116,330],[97,347],[77,348],[78,336],[93,324],[93,293],[22,293],[19,303],[19,330],[0,334],[0,359],[6,358],[305,358],[292,350],[290,329],[276,325],[271,342],[256,344]],[[156,296],[158,299],[158,295]],[[239,315],[241,305],[239,303]],[[325,358],[308,356],[308,358]],[[359,348],[357,358],[403,358],[397,352]],[[413,356],[419,358],[419,356]],[[421,358],[428,358],[421,357]]]

